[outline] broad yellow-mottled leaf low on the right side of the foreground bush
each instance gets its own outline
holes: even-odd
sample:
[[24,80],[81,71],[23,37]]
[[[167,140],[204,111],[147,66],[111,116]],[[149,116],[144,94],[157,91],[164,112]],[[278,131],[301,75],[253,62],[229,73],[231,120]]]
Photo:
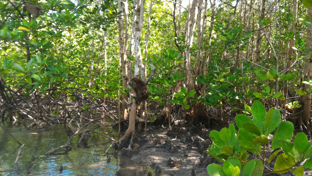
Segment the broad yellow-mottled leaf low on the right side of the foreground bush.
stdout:
[[274,173],[288,172],[295,165],[294,159],[285,153],[279,154],[273,168]]

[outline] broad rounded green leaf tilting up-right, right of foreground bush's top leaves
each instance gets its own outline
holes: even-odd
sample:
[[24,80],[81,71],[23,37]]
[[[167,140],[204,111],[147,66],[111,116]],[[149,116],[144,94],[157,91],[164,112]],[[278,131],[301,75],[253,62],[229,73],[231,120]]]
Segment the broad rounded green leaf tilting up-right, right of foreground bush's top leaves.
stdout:
[[[294,124],[289,121],[283,121],[274,133],[273,140],[291,139],[294,132]],[[272,144],[273,145],[273,144]]]

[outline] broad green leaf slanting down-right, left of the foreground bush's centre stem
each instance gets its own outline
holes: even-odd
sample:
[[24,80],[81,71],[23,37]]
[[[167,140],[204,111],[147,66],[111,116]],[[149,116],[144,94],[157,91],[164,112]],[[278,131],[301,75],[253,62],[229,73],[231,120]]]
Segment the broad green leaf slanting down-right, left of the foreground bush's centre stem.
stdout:
[[261,150],[261,145],[254,144],[252,141],[256,138],[251,135],[250,132],[247,132],[244,128],[238,130],[238,141],[241,146],[249,149],[255,149],[257,153]]

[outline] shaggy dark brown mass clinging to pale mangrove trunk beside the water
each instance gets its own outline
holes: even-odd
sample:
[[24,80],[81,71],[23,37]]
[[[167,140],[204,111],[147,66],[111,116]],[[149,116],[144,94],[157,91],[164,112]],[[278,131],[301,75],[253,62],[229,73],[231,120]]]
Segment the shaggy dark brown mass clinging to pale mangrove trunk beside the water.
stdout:
[[136,97],[134,96],[133,98],[138,105],[149,97],[149,91],[144,81],[139,78],[133,78],[129,85],[136,93]]

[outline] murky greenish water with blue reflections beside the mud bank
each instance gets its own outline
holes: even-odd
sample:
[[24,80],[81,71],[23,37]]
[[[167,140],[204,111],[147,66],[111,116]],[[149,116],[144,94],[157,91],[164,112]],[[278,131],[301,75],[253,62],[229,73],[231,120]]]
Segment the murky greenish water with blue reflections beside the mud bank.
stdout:
[[[140,163],[133,163],[127,156],[111,156],[110,163],[107,163],[105,150],[111,142],[96,133],[91,133],[88,145],[77,146],[79,137],[76,135],[69,145],[73,149],[64,154],[64,150],[57,151],[59,154],[44,155],[47,151],[66,144],[71,132],[66,132],[63,125],[55,125],[45,130],[33,128],[22,128],[3,124],[9,132],[17,138],[19,142],[25,144],[22,149],[18,163],[14,164],[19,144],[14,141],[0,127],[0,175],[146,175],[153,172],[149,167],[143,167]],[[109,136],[117,136],[115,130],[109,126],[93,129],[98,132],[106,133]],[[116,138],[115,138],[116,139]],[[113,153],[113,149],[110,153]],[[60,173],[60,166],[63,172]],[[11,171],[7,171],[11,170]]]

